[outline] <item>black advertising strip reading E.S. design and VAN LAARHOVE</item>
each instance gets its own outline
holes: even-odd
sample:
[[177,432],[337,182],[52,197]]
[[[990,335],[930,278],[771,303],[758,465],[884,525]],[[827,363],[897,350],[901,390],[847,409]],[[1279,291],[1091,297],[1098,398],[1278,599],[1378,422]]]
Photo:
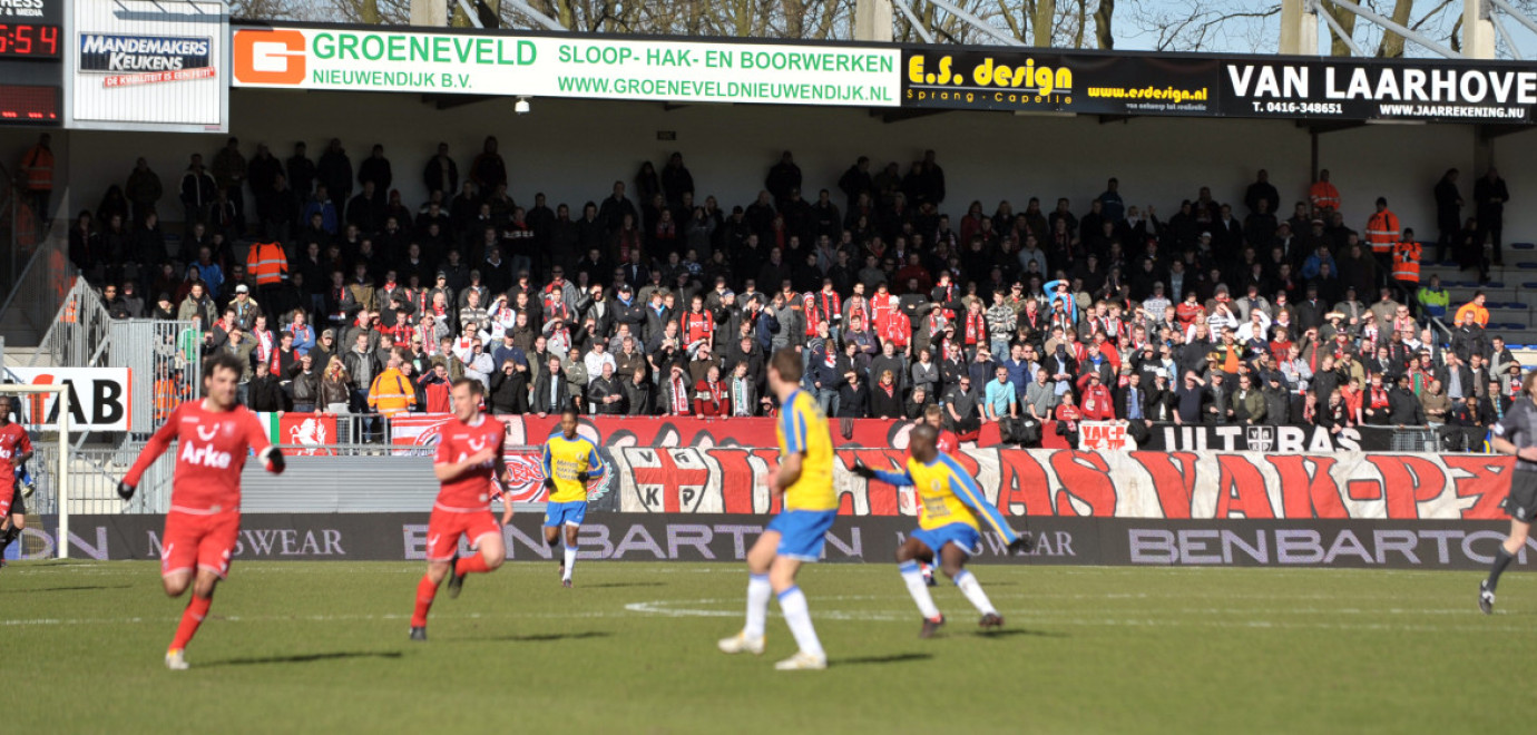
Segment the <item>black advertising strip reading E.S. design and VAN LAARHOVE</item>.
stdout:
[[902,106],[1041,114],[1532,123],[1511,62],[1313,60],[1037,49],[902,49]]

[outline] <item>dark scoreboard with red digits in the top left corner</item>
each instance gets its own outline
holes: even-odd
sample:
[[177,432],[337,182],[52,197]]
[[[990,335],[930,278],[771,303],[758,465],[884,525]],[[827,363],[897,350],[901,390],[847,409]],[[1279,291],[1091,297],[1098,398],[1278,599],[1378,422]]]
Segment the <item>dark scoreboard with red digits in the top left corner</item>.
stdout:
[[0,126],[63,123],[66,2],[0,0]]

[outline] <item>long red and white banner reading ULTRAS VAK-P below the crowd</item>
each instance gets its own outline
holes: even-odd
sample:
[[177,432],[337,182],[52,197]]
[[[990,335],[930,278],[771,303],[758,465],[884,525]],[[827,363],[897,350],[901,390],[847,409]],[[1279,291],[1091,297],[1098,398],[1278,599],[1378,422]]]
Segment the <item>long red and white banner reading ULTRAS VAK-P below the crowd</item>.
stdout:
[[[613,449],[619,511],[775,514],[773,449]],[[907,491],[864,481],[855,460],[901,467],[899,449],[839,449],[842,515],[916,515]],[[1503,455],[1336,452],[1074,452],[973,449],[956,455],[1008,518],[1503,520]]]

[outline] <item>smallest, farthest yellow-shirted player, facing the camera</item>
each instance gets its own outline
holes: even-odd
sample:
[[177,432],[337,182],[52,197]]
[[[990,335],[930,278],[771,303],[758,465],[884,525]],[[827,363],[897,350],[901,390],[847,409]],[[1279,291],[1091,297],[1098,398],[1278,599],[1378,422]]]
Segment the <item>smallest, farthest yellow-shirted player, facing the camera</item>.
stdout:
[[576,566],[576,534],[587,518],[587,481],[603,477],[603,457],[598,444],[576,434],[576,409],[561,411],[561,431],[544,441],[544,487],[550,491],[544,504],[544,544],[555,552],[561,527],[566,527],[566,555],[563,557],[561,584],[572,586],[572,569]]

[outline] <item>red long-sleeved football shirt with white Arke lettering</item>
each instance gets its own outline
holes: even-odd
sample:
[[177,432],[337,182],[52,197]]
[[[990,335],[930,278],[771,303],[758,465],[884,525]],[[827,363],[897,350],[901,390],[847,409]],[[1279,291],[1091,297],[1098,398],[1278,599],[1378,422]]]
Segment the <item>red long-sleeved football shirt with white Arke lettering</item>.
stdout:
[[171,440],[177,440],[171,509],[189,514],[240,511],[240,471],[246,466],[246,455],[272,446],[257,415],[244,406],[207,411],[201,400],[186,401],[149,438],[123,481],[138,484]]

